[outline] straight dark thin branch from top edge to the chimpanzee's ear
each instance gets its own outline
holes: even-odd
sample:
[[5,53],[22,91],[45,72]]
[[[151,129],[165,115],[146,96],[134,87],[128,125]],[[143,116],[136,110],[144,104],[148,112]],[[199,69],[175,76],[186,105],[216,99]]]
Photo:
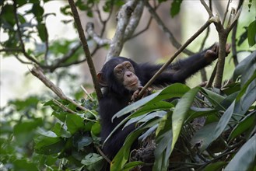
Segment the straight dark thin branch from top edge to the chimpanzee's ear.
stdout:
[[81,21],[80,21],[80,18],[79,18],[79,13],[77,12],[77,9],[75,7],[75,2],[73,0],[68,0],[68,3],[71,7],[72,14],[73,14],[73,17],[75,19],[75,24],[76,24],[77,30],[79,32],[79,38],[82,42],[83,51],[86,54],[87,64],[89,66],[89,72],[92,75],[92,79],[93,79],[93,86],[94,86],[94,89],[96,91],[96,95],[97,95],[98,99],[100,100],[102,98],[102,93],[100,91],[100,84],[99,84],[99,82],[97,80],[97,77],[96,77],[96,71],[95,71],[95,68],[94,68],[94,65],[93,65],[93,60],[91,58],[91,54],[89,52],[89,47],[88,47],[88,44],[87,44],[87,41],[86,41],[86,37],[85,37],[83,29],[82,29],[82,24],[81,24]]

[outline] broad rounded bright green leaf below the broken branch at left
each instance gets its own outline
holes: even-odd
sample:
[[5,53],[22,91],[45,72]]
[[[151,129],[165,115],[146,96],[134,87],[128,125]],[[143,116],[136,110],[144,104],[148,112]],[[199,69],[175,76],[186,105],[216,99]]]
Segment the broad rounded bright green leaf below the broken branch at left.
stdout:
[[79,131],[84,126],[82,117],[76,114],[68,114],[66,118],[66,124],[68,127],[68,131],[71,134]]

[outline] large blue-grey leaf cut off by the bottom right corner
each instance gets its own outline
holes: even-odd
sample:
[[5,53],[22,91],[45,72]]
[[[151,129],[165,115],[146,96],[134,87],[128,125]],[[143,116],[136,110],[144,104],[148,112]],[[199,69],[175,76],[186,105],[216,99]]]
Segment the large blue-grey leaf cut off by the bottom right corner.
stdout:
[[251,137],[231,159],[224,171],[228,170],[248,170],[255,165],[256,159],[256,134]]

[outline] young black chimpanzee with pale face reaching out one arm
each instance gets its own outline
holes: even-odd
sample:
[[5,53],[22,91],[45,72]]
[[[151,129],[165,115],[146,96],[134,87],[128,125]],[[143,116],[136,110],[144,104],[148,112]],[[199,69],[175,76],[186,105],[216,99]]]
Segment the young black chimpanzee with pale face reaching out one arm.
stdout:
[[[230,46],[226,46],[226,53],[230,51]],[[170,65],[163,72],[153,86],[167,86],[174,82],[185,82],[188,77],[198,72],[198,70],[209,65],[218,58],[218,44],[209,47],[208,50],[195,54],[189,58]],[[162,65],[137,64],[128,58],[112,58],[107,61],[101,72],[97,75],[100,86],[104,87],[103,98],[100,99],[100,118],[101,118],[101,138],[104,141],[124,119],[115,118],[114,122],[111,118],[119,110],[128,106],[134,92],[145,86],[146,82],[161,68]],[[135,125],[119,129],[106,141],[103,146],[103,152],[113,159],[124,143],[127,135],[135,129]]]

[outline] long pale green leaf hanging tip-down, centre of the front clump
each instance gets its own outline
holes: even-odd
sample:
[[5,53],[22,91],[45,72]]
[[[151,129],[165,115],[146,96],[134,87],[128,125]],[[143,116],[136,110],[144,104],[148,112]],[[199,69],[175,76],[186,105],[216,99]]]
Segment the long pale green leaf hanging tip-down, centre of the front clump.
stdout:
[[177,138],[181,132],[181,127],[183,126],[184,120],[187,118],[188,111],[193,103],[196,94],[199,91],[199,87],[195,87],[194,89],[189,90],[181,97],[180,101],[174,108],[174,113],[172,117],[172,125],[173,125],[173,141],[171,148],[174,149],[174,145],[176,144]]

